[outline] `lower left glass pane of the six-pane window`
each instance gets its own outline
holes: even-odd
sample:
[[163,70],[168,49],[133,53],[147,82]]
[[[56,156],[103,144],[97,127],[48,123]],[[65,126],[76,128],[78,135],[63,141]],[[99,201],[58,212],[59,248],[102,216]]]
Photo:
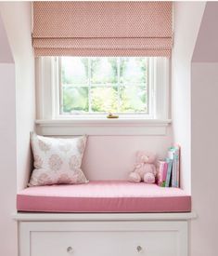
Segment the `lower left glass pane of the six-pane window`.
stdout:
[[88,112],[88,88],[63,87],[62,93],[63,113]]

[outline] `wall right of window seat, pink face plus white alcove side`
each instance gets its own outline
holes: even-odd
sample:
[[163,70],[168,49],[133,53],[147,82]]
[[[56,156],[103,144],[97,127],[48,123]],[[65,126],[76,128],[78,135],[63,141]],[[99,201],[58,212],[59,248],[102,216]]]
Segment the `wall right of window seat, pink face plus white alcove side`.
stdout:
[[198,214],[191,222],[190,256],[217,255],[217,13],[217,3],[206,7],[203,2],[175,3],[174,139],[185,145],[183,170],[188,171],[183,179],[185,184],[191,181],[193,209]]

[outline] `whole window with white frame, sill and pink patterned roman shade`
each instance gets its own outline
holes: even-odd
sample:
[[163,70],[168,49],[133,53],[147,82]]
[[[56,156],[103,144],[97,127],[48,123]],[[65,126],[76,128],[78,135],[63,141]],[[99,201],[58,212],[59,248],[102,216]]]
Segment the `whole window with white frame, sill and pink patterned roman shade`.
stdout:
[[[110,14],[116,18],[112,22]],[[36,123],[44,129],[41,133],[166,132],[172,3],[120,3],[114,7],[103,2],[36,2],[33,18]],[[106,118],[109,112],[119,118]]]

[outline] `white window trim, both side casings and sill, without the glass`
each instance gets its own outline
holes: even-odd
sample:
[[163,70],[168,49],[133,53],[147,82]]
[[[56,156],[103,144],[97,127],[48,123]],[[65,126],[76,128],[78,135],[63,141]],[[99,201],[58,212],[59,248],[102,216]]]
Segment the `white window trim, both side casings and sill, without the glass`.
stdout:
[[[151,115],[58,115],[58,63],[55,57],[36,58],[37,132],[43,135],[165,135],[169,119],[169,61],[151,60],[149,84],[152,85]],[[157,89],[159,88],[159,89]],[[151,103],[151,101],[153,101]],[[149,108],[151,108],[151,105]]]

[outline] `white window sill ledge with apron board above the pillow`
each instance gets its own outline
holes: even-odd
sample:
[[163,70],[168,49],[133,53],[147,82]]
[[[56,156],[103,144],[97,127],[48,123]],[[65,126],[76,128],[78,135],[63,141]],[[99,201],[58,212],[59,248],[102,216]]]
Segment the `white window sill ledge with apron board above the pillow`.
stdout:
[[71,135],[166,135],[170,119],[38,119],[38,134]]

